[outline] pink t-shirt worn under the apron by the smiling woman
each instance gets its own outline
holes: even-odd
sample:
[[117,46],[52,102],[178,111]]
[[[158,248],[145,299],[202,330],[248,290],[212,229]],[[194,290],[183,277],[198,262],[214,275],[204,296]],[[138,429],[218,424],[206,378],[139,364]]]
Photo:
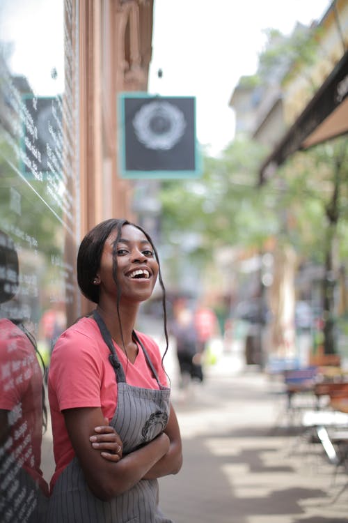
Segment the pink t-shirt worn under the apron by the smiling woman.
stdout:
[[[160,383],[166,386],[166,373],[161,366],[159,347],[147,335],[139,332],[136,334],[148,352]],[[131,363],[118,345],[114,346],[128,384],[142,388],[159,388],[141,347],[136,360]],[[49,365],[48,383],[56,461],[51,489],[59,474],[74,457],[62,411],[77,407],[101,407],[104,417],[109,418],[109,421],[115,414],[117,384],[115,371],[109,361],[110,354],[93,318],[80,319],[56,342]]]

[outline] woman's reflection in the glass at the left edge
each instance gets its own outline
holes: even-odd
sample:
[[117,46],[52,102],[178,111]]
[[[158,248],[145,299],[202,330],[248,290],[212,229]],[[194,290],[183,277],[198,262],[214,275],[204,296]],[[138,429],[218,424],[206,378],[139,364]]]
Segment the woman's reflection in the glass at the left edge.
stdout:
[[[0,303],[15,296],[17,283],[17,252],[0,231]],[[0,521],[40,523],[48,495],[40,469],[42,371],[20,304],[15,319],[10,311],[0,308]]]

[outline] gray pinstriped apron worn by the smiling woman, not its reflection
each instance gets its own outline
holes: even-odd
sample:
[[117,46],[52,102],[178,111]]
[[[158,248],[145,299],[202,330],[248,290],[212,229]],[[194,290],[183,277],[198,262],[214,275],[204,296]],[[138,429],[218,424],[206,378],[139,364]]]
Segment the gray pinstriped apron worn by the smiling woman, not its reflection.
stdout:
[[[154,439],[168,422],[170,389],[161,386],[150,358],[134,333],[152,370],[159,389],[130,386],[118,361],[111,335],[97,311],[93,312],[102,337],[109,347],[109,360],[116,373],[118,402],[110,425],[120,435],[123,454]],[[89,490],[75,456],[54,485],[49,499],[47,523],[173,523],[158,507],[158,481],[142,479],[127,492],[101,501]]]

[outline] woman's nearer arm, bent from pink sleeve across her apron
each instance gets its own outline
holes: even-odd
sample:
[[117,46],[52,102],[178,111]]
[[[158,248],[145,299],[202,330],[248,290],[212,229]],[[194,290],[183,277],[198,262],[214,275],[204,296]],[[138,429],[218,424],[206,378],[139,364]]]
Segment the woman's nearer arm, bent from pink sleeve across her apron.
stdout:
[[162,433],[118,462],[105,460],[90,444],[90,436],[95,435],[94,428],[104,425],[100,407],[66,409],[63,415],[88,487],[103,501],[136,485],[170,449],[169,437]]

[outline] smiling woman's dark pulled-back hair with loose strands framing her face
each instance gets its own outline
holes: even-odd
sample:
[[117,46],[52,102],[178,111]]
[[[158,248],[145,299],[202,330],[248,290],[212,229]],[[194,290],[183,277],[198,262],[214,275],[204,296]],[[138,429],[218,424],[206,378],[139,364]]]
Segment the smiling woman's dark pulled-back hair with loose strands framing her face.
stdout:
[[[115,280],[117,285],[117,244],[120,241],[120,237],[122,234],[122,227],[123,225],[132,225],[132,227],[136,227],[136,229],[139,229],[147,238],[149,243],[152,246],[152,249],[155,252],[155,258],[157,260],[158,266],[159,266],[159,285],[161,285],[162,289],[162,307],[164,312],[164,335],[166,338],[166,351],[168,350],[168,332],[167,332],[167,313],[166,313],[166,289],[164,287],[164,283],[161,276],[161,266],[159,264],[159,257],[157,250],[155,248],[155,245],[152,242],[152,239],[150,235],[145,232],[145,230],[140,226],[136,225],[132,222],[129,222],[125,219],[119,219],[119,218],[110,218],[109,220],[105,220],[104,222],[101,222],[100,224],[93,227],[93,229],[90,230],[86,234],[86,236],[81,241],[81,244],[79,246],[79,252],[77,253],[77,283],[79,285],[79,288],[81,289],[82,294],[88,298],[88,300],[93,301],[94,303],[99,303],[99,285],[95,285],[93,283],[93,280],[95,276],[97,275],[97,271],[100,268],[100,261],[102,259],[102,252],[104,249],[104,243],[106,242],[106,239],[109,238],[111,232],[113,232],[114,229],[117,231],[116,239],[113,243],[113,280]],[[117,308],[120,303],[120,295],[121,295],[120,286],[117,285],[117,293],[118,293],[118,299],[117,299]],[[118,309],[118,320],[120,321],[120,314]],[[122,326],[121,328],[121,334],[122,334]],[[164,355],[166,354],[166,351],[164,352]]]

